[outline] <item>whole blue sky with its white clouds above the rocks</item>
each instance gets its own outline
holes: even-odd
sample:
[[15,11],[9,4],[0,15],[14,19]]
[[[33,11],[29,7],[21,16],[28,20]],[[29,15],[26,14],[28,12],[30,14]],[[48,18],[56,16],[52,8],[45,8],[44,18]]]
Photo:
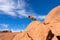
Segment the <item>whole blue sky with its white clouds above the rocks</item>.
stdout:
[[0,30],[23,31],[32,22],[29,15],[43,21],[60,0],[0,0]]

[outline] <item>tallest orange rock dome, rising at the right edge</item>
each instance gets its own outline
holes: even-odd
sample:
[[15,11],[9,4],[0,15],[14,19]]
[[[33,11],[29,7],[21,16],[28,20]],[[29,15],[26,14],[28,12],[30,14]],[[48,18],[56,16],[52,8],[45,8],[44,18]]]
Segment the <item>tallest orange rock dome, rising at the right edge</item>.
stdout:
[[45,23],[55,35],[52,40],[58,40],[56,36],[60,36],[60,6],[55,7],[48,13]]

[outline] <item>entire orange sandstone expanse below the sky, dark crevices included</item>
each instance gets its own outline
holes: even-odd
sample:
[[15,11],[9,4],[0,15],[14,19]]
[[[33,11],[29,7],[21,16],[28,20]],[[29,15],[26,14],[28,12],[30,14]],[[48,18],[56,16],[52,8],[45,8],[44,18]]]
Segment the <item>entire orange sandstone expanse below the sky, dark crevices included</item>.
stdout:
[[52,9],[44,22],[34,19],[24,32],[0,32],[0,40],[60,40],[60,6]]

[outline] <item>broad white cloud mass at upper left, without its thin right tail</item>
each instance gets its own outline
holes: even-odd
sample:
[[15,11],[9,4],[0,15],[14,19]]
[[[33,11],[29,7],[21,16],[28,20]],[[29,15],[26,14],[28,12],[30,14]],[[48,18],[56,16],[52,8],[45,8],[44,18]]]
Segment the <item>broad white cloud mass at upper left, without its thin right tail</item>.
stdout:
[[[24,0],[17,0],[15,3],[13,0],[0,0],[0,10],[5,12],[4,14],[11,15],[11,16],[28,16],[26,14],[26,3]],[[14,12],[16,10],[17,13]]]

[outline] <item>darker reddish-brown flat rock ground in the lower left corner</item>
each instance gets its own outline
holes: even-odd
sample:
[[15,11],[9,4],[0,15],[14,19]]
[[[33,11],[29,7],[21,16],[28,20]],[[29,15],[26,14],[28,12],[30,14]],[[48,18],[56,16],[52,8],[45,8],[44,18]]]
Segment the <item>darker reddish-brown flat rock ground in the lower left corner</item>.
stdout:
[[0,40],[12,40],[16,34],[18,33],[12,33],[11,31],[1,31]]

